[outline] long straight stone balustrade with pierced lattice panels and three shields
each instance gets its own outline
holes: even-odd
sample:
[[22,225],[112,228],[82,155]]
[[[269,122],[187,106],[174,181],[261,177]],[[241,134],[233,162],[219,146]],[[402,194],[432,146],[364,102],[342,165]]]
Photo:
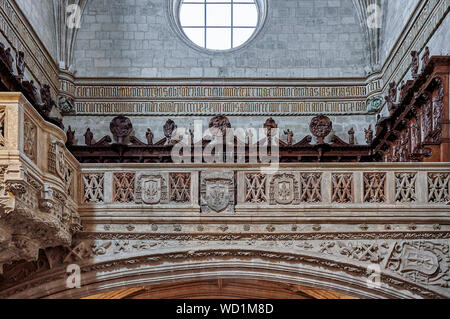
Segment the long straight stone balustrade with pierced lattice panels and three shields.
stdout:
[[[447,163],[83,164],[80,212],[447,212]],[[115,216],[117,216],[117,214]],[[399,215],[399,216],[400,216]]]

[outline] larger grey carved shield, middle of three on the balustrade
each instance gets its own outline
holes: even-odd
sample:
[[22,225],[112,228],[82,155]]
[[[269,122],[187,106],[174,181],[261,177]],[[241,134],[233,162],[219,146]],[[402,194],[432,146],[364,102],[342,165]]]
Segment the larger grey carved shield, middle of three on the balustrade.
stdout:
[[234,173],[202,173],[200,196],[202,213],[233,213]]

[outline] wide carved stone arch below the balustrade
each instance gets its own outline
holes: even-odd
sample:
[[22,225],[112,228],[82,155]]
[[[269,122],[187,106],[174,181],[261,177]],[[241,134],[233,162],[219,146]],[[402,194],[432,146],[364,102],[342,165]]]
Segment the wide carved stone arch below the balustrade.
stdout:
[[311,252],[257,249],[166,250],[126,258],[79,261],[82,286],[66,287],[63,263],[2,290],[2,298],[83,298],[122,288],[192,280],[266,280],[298,284],[359,298],[444,298],[395,273],[383,271],[381,286],[367,284],[362,263]]

